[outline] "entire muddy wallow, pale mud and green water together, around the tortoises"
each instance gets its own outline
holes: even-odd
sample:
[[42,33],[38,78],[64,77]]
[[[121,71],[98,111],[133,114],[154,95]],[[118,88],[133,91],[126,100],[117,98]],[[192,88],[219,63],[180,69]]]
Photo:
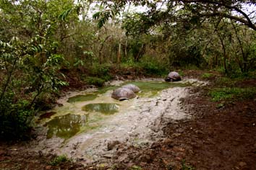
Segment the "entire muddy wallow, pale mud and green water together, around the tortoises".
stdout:
[[38,138],[29,143],[29,149],[66,155],[85,165],[125,161],[129,154],[117,156],[118,151],[151,147],[165,140],[166,125],[189,119],[189,109],[181,106],[182,100],[193,86],[207,84],[196,79],[171,86],[155,79],[132,83],[141,86],[142,92],[122,102],[110,97],[122,81],[111,82],[106,89],[69,92],[58,101],[63,106],[46,113],[49,117],[41,117]]

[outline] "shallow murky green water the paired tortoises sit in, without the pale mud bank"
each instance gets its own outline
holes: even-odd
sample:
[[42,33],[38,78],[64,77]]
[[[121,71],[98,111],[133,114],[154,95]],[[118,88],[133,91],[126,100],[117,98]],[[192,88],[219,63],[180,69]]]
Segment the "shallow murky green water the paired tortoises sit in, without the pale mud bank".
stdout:
[[48,114],[40,117],[46,118],[48,127],[47,138],[57,136],[68,139],[77,133],[88,132],[101,127],[104,120],[111,118],[115,114],[126,112],[132,107],[134,100],[120,102],[111,98],[114,89],[125,84],[135,84],[140,88],[137,93],[139,97],[155,97],[163,89],[172,87],[192,86],[189,83],[168,83],[165,81],[127,81],[119,86],[105,86],[94,92],[81,91],[81,94],[67,98],[62,102],[62,107],[56,107]]

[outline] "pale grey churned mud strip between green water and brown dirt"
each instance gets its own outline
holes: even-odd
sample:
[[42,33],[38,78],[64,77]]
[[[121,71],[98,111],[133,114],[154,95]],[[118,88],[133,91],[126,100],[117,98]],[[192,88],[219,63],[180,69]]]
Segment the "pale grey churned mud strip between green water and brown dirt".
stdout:
[[[184,82],[192,83],[193,86],[207,84],[197,79],[185,79]],[[80,133],[66,141],[61,138],[46,140],[46,131],[42,129],[41,135],[29,144],[29,149],[64,154],[85,165],[97,162],[111,164],[111,160],[116,160],[116,151],[129,146],[147,148],[165,138],[163,128],[168,123],[189,119],[189,108],[180,103],[192,88],[174,87],[161,91],[157,97],[129,100],[127,102],[132,103],[126,112],[106,120],[98,130]],[[124,161],[127,156],[119,156],[118,160]]]

